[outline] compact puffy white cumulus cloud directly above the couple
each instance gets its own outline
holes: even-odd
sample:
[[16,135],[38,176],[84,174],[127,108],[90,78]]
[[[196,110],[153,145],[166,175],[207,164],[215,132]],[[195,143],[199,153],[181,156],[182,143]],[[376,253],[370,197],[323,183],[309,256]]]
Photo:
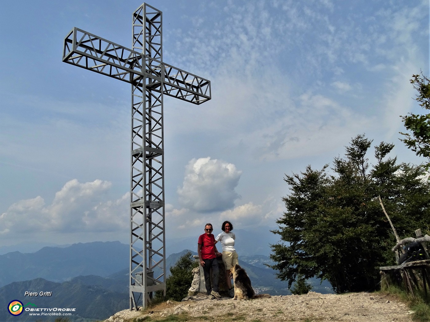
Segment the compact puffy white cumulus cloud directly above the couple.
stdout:
[[200,212],[234,207],[234,200],[240,198],[234,189],[241,174],[234,164],[210,157],[194,158],[187,164],[184,182],[178,188],[179,201]]

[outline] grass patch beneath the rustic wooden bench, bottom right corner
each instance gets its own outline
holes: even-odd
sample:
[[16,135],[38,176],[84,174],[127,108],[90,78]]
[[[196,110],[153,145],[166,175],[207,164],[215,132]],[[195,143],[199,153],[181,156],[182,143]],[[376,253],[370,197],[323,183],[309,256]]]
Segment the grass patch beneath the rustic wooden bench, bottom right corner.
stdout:
[[411,311],[414,311],[412,315],[413,321],[426,322],[430,321],[430,301],[425,298],[425,295],[415,291],[416,298],[413,298],[411,294],[406,293],[406,291],[400,289],[397,286],[389,286],[384,291],[378,291],[378,293],[383,295],[394,296],[405,302]]

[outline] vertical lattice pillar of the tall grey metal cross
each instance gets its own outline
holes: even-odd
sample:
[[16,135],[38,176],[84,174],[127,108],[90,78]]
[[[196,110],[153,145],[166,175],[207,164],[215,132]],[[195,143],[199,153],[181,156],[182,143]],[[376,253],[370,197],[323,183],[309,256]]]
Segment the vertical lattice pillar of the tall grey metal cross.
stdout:
[[142,76],[132,84],[130,309],[134,292],[145,307],[151,292],[166,294],[162,13],[146,3],[133,13],[133,50],[144,57],[142,74],[158,79]]

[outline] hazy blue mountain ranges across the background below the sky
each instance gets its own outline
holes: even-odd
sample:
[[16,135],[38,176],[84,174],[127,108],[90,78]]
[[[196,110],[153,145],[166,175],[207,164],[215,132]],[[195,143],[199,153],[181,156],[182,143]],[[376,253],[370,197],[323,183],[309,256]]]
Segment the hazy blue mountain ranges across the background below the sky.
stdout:
[[[287,283],[276,279],[275,271],[265,264],[273,264],[269,254],[244,255],[249,247],[243,241],[252,239],[237,231],[240,265],[247,271],[256,292],[271,295],[289,295]],[[246,238],[248,237],[248,238]],[[253,235],[255,237],[255,235]],[[191,240],[190,240],[191,242]],[[192,240],[197,244],[196,240]],[[254,243],[251,245],[256,246]],[[182,243],[182,246],[186,242]],[[258,243],[257,243],[258,244]],[[261,244],[261,243],[260,243]],[[241,251],[239,251],[241,249]],[[188,249],[170,254],[166,258],[166,276],[169,268]],[[191,250],[192,255],[197,255]],[[242,255],[241,255],[242,254]],[[107,319],[114,313],[129,307],[129,245],[120,242],[78,243],[64,248],[44,247],[34,253],[9,252],[0,255],[0,303],[7,305],[12,300],[28,302],[37,307],[74,307],[72,320]],[[313,291],[332,293],[329,283],[320,285],[319,280],[310,279]],[[52,292],[50,297],[28,297],[25,292]],[[40,317],[42,321],[55,318]],[[19,321],[35,321],[28,312]],[[18,321],[7,310],[0,310],[0,321]]]

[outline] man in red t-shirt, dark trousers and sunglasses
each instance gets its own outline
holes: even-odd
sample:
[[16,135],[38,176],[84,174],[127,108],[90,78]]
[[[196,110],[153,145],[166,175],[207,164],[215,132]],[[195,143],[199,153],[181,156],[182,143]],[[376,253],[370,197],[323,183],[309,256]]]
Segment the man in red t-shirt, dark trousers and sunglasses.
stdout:
[[[197,253],[200,258],[200,265],[203,267],[203,273],[205,274],[206,292],[210,300],[215,298],[220,299],[221,295],[218,293],[218,281],[219,281],[219,269],[217,256],[222,254],[218,252],[215,246],[215,237],[212,235],[212,224],[208,223],[205,225],[205,233],[199,236],[197,245]],[[212,268],[212,282],[210,279],[210,270]]]

